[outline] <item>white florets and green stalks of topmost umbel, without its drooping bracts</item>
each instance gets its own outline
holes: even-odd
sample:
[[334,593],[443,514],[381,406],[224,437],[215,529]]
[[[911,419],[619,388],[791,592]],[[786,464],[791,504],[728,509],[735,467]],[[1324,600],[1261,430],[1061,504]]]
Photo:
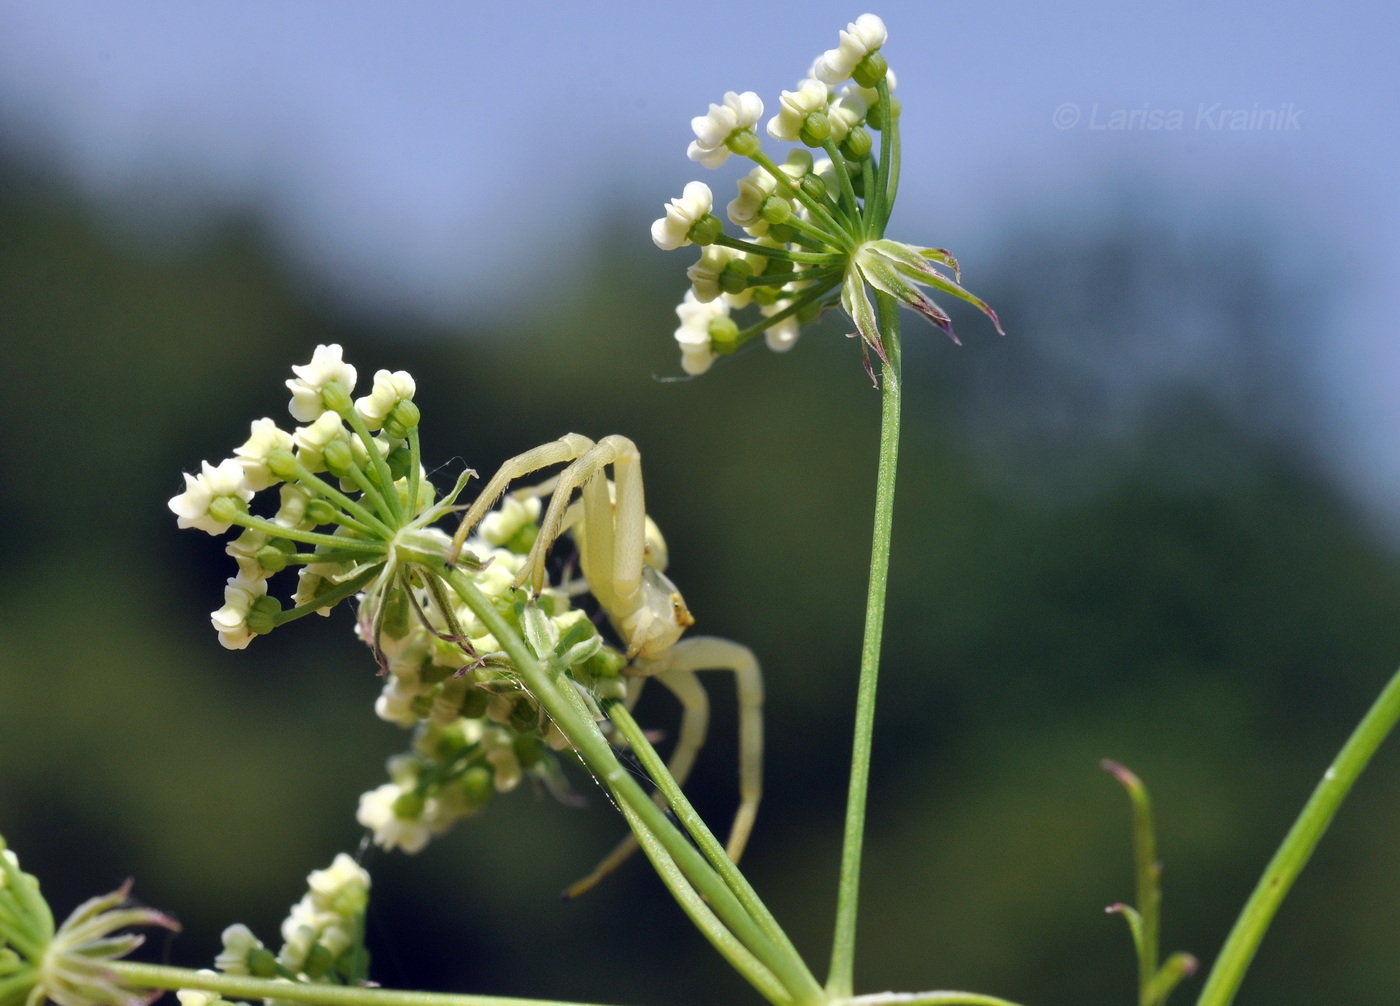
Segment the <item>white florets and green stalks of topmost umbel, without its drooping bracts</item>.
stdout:
[[[892,90],[879,49],[888,32],[874,14],[862,14],[840,32],[839,45],[812,63],[795,90],[783,91],[777,113],[767,120],[767,136],[805,147],[822,147],[827,157],[813,161],[799,147],[783,164],[764,157],[756,134],[763,116],[763,101],[752,91],[729,91],[721,104],[711,104],[706,115],[692,119],[694,140],[689,157],[707,168],[717,168],[731,154],[749,157],[756,167],[739,179],[738,196],[728,204],[728,218],[743,229],[749,241],[735,241],[722,234],[711,217],[714,197],[708,186],[690,182],[679,199],[671,200],[665,215],[652,224],[651,235],[658,248],[672,250],[696,243],[700,260],[689,270],[690,291],[676,308],[679,326],[675,339],[680,365],[686,374],[703,374],[718,355],[732,353],[757,333],[769,347],[785,351],[798,336],[798,312],[812,304],[804,320],[825,306],[836,304],[834,269],[822,271],[822,253],[840,249],[847,253],[867,231],[851,196],[871,171],[871,139],[867,126],[881,129],[875,109],[883,78]],[[886,102],[889,104],[889,102]],[[889,112],[881,109],[881,115]],[[883,122],[883,119],[879,119]],[[833,151],[841,164],[833,164]],[[843,187],[844,186],[844,187]],[[847,234],[841,234],[846,231]],[[834,255],[827,255],[836,263]],[[794,264],[795,263],[795,264]],[[820,273],[822,287],[802,276],[801,264]],[[757,305],[760,320],[739,329],[731,312]]]

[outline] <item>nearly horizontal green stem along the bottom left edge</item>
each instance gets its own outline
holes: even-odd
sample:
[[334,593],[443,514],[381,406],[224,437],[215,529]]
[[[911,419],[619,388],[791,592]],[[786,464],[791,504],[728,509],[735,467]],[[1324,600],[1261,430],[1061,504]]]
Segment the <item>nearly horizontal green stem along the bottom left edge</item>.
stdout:
[[204,989],[239,999],[281,999],[307,1006],[587,1006],[554,999],[508,999],[503,996],[455,995],[448,992],[405,992],[358,985],[300,985],[272,978],[224,975],[211,971],[172,968],[164,964],[112,961],[106,968],[137,988]]

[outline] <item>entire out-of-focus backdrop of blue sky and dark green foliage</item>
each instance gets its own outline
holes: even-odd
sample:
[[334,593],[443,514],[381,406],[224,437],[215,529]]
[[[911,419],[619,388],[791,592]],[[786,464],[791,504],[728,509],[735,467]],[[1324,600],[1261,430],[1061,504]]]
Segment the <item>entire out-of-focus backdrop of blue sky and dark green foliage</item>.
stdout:
[[[637,439],[699,628],[763,660],[745,866],[825,968],[878,396],[837,318],[664,381],[693,255],[647,225],[701,175],[690,116],[731,88],[774,108],[860,13],[0,0],[0,833],[57,911],[134,876],[185,925],[153,957],[209,965],[230,922],[276,942],[361,841],[405,737],[349,611],[220,649],[231,561],[165,508],[339,341],[417,375],[430,466]],[[1127,800],[1098,761],[1151,786],[1165,944],[1208,964],[1400,660],[1400,14],[876,13],[890,235],[953,249],[1008,334],[906,320],[858,986],[1131,1002],[1103,914],[1133,894]],[[741,171],[706,178],[717,200]],[[711,694],[692,789],[722,828]],[[675,709],[655,690],[641,718]],[[753,1002],[640,862],[557,901],[622,833],[591,796],[371,852],[375,977]],[[1392,744],[1239,1003],[1396,1000],[1397,828]]]

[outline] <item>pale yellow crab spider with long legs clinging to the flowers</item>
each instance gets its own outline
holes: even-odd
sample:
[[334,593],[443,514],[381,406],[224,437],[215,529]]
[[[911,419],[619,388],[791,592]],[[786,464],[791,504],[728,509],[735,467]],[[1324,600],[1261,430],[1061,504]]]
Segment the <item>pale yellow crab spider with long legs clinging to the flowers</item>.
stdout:
[[[449,561],[456,560],[466,536],[512,481],[552,465],[567,467],[547,483],[517,491],[521,497],[550,494],[539,536],[517,585],[529,581],[539,593],[545,586],[546,553],[560,534],[573,533],[584,581],[631,660],[623,672],[633,679],[627,688],[629,709],[636,705],[648,677],[666,686],[680,702],[680,733],[668,764],[678,785],[690,774],[710,723],[710,700],[696,672],[734,672],[739,697],[739,809],[725,851],[738,860],[753,830],[763,791],[763,674],[753,653],[736,642],[714,637],[680,639],[694,618],[662,572],[666,547],[647,516],[637,446],[626,437],[605,437],[595,444],[587,437],[566,434],[511,458],[462,516]],[[605,474],[609,466],[610,480]],[[575,490],[580,493],[577,504],[573,502]],[[636,839],[627,838],[568,894],[580,894],[595,884],[633,849]]]

